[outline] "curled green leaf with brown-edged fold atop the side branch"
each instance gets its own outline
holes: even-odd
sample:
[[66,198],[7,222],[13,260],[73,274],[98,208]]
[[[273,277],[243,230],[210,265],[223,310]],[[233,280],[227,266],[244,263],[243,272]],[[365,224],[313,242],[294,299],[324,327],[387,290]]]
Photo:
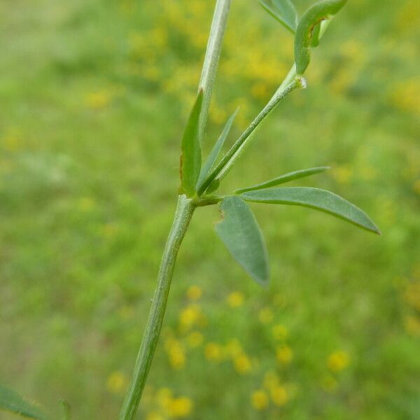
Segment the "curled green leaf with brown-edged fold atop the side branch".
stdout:
[[330,20],[347,0],[324,0],[311,6],[297,25],[295,36],[295,62],[298,76],[302,76],[311,61],[311,43],[318,45],[319,29],[323,20]]

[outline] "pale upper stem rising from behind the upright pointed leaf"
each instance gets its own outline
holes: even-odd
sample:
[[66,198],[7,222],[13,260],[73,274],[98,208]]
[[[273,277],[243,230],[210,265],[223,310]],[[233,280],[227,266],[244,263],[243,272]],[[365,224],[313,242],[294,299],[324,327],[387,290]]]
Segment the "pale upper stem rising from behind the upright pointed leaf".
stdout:
[[213,21],[211,22],[209,41],[207,41],[207,50],[204,57],[202,75],[200,78],[200,84],[198,85],[198,90],[203,90],[203,105],[199,127],[200,141],[202,141],[204,137],[207,118],[209,117],[211,94],[213,93],[217,66],[219,58],[221,57],[223,36],[225,35],[225,29],[228,23],[231,1],[232,0],[217,0],[216,7],[214,8]]

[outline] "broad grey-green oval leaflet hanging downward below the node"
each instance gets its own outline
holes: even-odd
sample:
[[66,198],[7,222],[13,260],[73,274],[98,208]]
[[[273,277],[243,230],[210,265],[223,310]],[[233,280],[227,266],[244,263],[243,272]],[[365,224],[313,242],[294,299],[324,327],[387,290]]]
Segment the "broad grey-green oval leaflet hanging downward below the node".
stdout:
[[246,272],[265,285],[269,278],[267,248],[251,209],[239,197],[226,197],[220,211],[218,236]]

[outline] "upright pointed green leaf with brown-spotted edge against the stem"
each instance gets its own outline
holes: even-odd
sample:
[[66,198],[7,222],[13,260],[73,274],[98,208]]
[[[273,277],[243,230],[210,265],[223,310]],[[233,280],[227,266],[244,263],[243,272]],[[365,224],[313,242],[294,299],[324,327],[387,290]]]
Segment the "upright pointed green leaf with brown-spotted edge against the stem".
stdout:
[[201,147],[199,124],[202,103],[203,91],[200,90],[182,138],[181,187],[179,193],[186,194],[188,197],[192,197],[195,194],[195,185],[200,176]]

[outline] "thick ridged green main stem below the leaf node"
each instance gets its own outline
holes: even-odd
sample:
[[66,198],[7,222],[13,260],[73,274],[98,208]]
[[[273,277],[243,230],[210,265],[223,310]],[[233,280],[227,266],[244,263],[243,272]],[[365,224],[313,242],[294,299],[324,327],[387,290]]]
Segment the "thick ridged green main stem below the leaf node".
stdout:
[[186,195],[179,195],[174,223],[169,232],[165,251],[163,251],[162,255],[162,262],[160,263],[158,286],[153,296],[146,330],[144,331],[139,354],[134,366],[132,381],[125,395],[123,407],[120,412],[120,420],[132,420],[137,412],[141,393],[146,384],[148,371],[151,367],[153,354],[155,353],[156,344],[158,344],[160,329],[162,328],[176,255],[178,255],[181,242],[186,235],[194,210],[195,204],[193,204],[192,200],[188,199]]

